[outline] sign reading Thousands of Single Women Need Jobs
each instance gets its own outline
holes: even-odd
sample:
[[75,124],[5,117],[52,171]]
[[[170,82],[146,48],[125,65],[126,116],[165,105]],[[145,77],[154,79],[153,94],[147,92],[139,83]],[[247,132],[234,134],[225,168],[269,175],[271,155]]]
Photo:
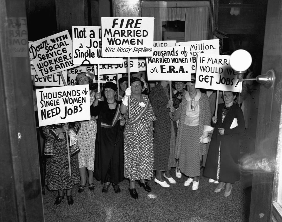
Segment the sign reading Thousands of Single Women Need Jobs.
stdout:
[[36,89],[39,126],[90,120],[89,85]]

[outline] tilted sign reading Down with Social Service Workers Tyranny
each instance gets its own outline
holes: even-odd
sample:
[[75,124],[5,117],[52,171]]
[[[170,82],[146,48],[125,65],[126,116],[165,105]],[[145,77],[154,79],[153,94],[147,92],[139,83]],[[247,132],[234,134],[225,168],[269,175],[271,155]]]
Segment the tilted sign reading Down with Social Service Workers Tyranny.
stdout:
[[39,78],[78,66],[73,65],[72,41],[67,30],[31,42],[28,47]]

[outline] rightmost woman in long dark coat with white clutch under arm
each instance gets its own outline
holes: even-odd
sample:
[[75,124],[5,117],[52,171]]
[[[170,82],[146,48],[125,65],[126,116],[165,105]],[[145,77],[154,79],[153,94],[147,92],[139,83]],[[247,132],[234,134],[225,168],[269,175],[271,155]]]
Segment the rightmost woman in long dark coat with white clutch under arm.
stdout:
[[234,103],[235,98],[236,93],[225,91],[224,103],[218,105],[217,116],[212,117],[215,128],[204,170],[204,176],[220,182],[214,192],[219,193],[225,187],[226,197],[231,193],[232,183],[240,179],[239,138],[245,128],[243,112]]

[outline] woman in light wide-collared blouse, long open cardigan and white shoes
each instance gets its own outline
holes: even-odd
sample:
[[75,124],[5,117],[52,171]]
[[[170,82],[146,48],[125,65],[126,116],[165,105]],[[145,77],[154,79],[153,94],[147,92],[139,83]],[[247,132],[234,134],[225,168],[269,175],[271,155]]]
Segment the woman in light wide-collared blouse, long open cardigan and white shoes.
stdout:
[[[182,98],[179,108],[172,118],[179,120],[175,158],[178,159],[178,166],[181,173],[188,176],[184,186],[193,182],[192,190],[199,188],[200,167],[202,155],[206,153],[206,139],[210,126],[211,110],[209,99],[206,94],[195,88],[195,77],[187,82],[188,93]],[[199,140],[200,139],[200,140]]]

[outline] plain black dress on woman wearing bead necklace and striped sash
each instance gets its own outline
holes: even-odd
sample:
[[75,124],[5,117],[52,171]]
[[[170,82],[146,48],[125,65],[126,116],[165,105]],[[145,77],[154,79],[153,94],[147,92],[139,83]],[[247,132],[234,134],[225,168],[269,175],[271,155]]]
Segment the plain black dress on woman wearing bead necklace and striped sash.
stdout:
[[[121,101],[116,101],[120,104]],[[123,126],[120,121],[111,128],[101,127],[101,123],[112,124],[116,109],[110,110],[107,102],[90,106],[91,116],[99,116],[95,141],[94,176],[102,183],[110,181],[118,184],[123,181]]]

